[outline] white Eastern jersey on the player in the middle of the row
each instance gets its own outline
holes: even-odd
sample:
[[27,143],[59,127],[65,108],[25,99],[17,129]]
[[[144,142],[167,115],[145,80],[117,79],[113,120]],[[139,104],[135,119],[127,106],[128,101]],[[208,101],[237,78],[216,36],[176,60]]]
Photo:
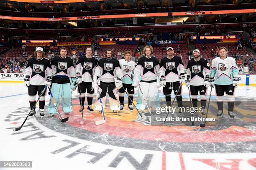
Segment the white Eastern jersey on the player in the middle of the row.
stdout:
[[135,69],[136,63],[132,60],[126,61],[125,59],[119,60],[120,67],[123,71],[123,83],[132,84],[133,82],[133,71]]

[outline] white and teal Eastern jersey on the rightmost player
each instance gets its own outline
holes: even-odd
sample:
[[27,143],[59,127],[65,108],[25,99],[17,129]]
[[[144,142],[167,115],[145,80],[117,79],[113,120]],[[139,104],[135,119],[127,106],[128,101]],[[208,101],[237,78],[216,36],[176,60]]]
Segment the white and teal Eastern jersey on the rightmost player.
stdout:
[[216,57],[212,60],[211,77],[215,77],[214,84],[231,85],[234,76],[238,77],[238,67],[234,58],[226,57],[222,60]]

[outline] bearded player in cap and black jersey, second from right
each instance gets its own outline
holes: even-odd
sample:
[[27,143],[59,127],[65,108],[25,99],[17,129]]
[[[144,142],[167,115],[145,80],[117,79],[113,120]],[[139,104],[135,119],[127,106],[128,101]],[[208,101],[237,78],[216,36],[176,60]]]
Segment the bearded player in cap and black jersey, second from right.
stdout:
[[197,107],[197,95],[200,94],[202,115],[205,115],[206,90],[210,86],[210,66],[207,60],[200,57],[200,51],[193,51],[191,60],[187,63],[186,86],[190,87],[193,107]]

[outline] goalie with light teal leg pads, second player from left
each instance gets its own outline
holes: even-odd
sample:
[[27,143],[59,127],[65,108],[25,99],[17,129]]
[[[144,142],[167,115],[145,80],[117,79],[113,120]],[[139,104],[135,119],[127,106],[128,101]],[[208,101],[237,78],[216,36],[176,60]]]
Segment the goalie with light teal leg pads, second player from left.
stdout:
[[[61,47],[60,56],[56,56],[51,60],[53,70],[51,92],[59,107],[60,99],[64,113],[72,112],[72,90],[77,87],[76,71],[74,62],[70,57],[67,57],[67,48]],[[49,101],[48,113],[56,114],[52,99]]]

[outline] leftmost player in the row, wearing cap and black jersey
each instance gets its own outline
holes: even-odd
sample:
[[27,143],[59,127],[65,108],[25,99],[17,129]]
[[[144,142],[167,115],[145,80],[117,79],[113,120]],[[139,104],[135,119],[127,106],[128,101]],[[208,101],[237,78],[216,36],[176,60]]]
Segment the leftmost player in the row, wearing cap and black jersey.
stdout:
[[[33,105],[36,104],[36,93],[41,95],[41,91],[44,90],[45,85],[51,85],[51,64],[50,61],[44,58],[44,50],[42,47],[37,47],[34,52],[36,57],[28,59],[26,66],[26,76],[24,83],[28,87],[29,104],[32,109]],[[45,105],[45,92],[39,99],[40,116],[44,116],[44,105]],[[34,117],[36,110],[33,109],[29,117]]]

